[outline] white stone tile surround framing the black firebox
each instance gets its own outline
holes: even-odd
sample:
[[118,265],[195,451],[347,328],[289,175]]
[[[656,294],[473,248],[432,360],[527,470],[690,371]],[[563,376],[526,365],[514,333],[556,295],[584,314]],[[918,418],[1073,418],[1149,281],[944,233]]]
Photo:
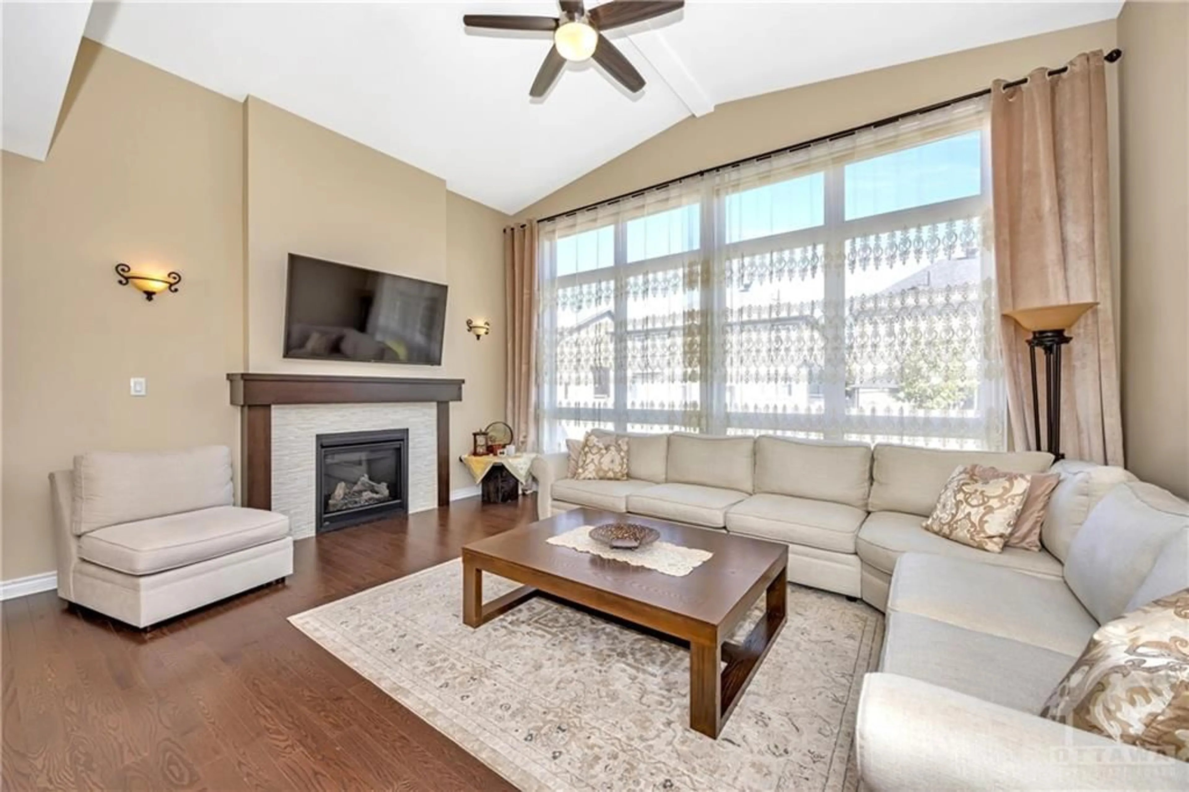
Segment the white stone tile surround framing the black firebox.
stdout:
[[438,507],[438,407],[419,404],[277,404],[272,408],[272,510],[289,517],[294,539],[313,536],[314,438],[332,432],[409,430],[409,513]]

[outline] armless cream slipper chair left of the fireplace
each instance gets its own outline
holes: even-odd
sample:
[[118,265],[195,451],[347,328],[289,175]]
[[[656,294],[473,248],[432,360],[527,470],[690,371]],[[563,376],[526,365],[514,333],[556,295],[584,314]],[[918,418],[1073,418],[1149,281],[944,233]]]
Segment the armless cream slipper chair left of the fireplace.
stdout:
[[88,453],[50,489],[58,596],[134,627],[292,573],[289,517],[234,505],[226,446]]

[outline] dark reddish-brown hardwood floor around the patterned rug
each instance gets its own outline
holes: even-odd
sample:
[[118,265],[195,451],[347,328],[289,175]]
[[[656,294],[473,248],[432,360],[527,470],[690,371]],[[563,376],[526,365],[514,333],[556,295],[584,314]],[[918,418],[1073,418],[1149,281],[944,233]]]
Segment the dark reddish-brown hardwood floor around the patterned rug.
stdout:
[[285,618],[534,518],[531,498],[459,501],[301,540],[285,584],[149,633],[55,592],[2,603],[0,786],[512,788]]

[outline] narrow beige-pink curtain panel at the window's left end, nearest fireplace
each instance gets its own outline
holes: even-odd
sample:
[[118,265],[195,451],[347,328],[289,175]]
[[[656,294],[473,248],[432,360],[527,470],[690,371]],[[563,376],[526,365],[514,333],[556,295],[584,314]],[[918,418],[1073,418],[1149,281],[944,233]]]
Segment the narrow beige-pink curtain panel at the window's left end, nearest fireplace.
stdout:
[[508,422],[522,451],[536,450],[536,221],[504,228]]

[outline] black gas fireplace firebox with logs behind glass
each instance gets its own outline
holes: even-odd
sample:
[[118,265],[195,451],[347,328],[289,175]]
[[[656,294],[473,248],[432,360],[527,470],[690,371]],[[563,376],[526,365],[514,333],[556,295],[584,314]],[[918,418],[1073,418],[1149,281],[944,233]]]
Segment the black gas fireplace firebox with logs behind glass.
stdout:
[[315,438],[317,533],[409,511],[409,430]]

